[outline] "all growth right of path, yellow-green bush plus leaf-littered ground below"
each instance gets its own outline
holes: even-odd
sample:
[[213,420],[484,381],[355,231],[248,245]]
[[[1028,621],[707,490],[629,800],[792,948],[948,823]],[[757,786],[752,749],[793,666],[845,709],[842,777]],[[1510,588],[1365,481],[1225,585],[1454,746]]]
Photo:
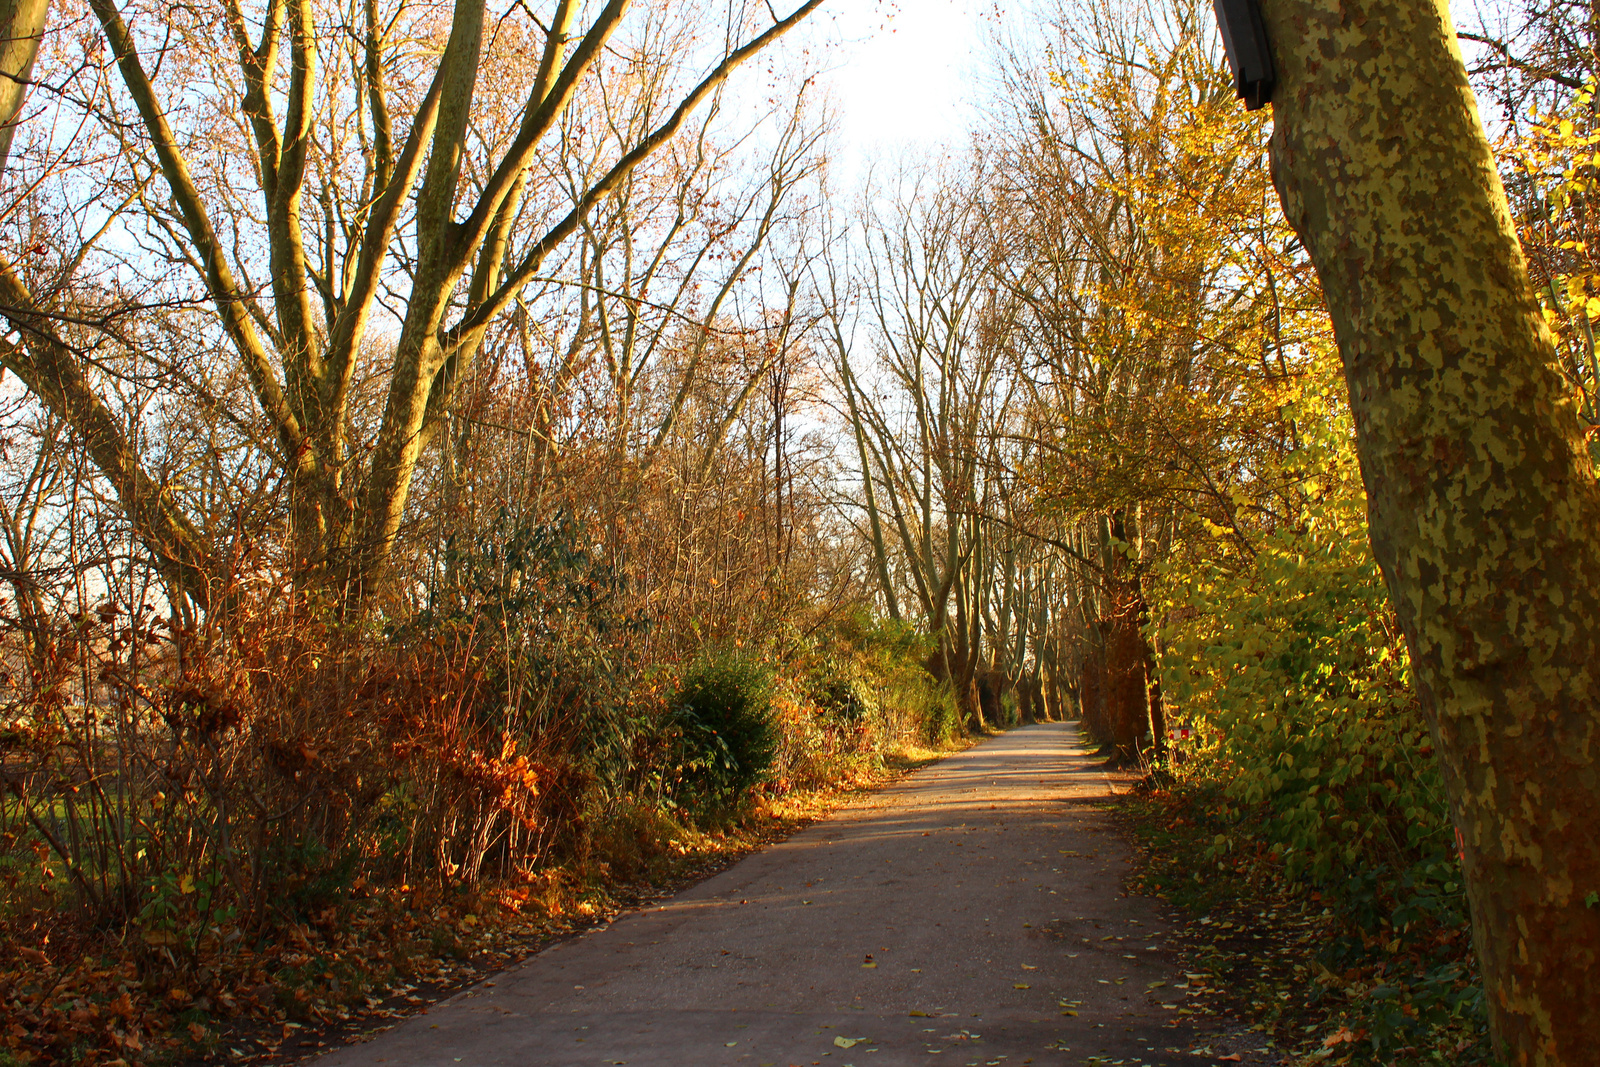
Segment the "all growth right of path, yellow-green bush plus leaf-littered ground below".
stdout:
[[1488,1062],[1430,728],[1347,427],[1328,434],[1307,443],[1301,525],[1160,576],[1152,633],[1187,739],[1152,779],[1170,789],[1130,801],[1142,885],[1197,918],[1243,1011],[1304,1061]]

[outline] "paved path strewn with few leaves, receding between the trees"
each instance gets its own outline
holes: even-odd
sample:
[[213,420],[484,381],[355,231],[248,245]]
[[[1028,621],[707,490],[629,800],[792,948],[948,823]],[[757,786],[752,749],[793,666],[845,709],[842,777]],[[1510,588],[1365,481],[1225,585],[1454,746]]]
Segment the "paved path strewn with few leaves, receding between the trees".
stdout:
[[1011,731],[318,1064],[1195,1064],[1107,793]]

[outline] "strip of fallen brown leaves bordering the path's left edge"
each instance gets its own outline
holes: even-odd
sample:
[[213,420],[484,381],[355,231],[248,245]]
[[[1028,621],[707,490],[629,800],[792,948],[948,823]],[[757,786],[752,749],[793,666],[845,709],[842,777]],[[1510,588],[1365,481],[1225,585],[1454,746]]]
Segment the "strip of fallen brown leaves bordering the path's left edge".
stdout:
[[254,934],[224,926],[230,949],[203,945],[189,966],[59,909],[13,915],[0,928],[19,953],[0,965],[0,1064],[293,1062],[698,881],[946,750],[842,755],[826,781],[760,790],[709,829],[648,803],[611,805],[594,813],[582,849],[517,880],[355,877],[302,921]]

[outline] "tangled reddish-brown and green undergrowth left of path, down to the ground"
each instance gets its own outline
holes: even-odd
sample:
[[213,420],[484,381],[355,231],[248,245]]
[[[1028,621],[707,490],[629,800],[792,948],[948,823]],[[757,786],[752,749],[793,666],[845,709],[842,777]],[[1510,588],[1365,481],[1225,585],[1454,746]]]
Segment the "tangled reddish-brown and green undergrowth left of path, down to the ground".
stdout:
[[0,1056],[242,1059],[402,1013],[949,741],[910,633],[669,635],[573,522],[502,518],[382,627],[267,585],[194,629],[107,601],[30,630]]

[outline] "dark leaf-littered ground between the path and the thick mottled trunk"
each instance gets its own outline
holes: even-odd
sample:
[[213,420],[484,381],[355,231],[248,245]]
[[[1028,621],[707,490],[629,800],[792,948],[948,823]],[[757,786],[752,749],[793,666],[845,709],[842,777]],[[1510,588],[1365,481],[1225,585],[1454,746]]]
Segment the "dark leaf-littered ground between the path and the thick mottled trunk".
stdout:
[[1184,913],[1186,968],[1232,1014],[1304,1067],[1494,1062],[1464,926],[1370,923],[1349,901],[1371,886],[1291,878],[1259,843],[1218,854],[1216,835],[1238,832],[1221,808],[1194,785],[1120,801],[1139,845],[1130,888]]

